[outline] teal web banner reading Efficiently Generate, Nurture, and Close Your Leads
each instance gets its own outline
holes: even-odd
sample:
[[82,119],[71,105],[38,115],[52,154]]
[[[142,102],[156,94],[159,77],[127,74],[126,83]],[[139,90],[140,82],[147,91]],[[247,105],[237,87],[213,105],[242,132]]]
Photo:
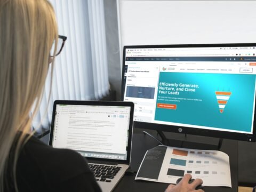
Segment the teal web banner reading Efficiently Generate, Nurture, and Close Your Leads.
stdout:
[[251,132],[255,75],[161,72],[155,120]]

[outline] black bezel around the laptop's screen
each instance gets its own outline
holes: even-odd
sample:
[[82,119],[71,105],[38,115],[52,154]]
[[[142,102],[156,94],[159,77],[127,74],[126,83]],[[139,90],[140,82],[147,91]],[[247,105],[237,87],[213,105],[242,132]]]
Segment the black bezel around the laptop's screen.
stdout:
[[77,101],[77,100],[55,100],[53,103],[52,110],[52,122],[50,129],[50,139],[49,145],[52,146],[53,141],[53,131],[54,131],[54,122],[55,122],[55,111],[57,105],[88,105],[88,106],[118,106],[118,107],[130,107],[130,121],[129,121],[129,140],[127,142],[127,159],[106,159],[106,158],[94,158],[86,157],[91,162],[111,162],[111,163],[122,163],[129,165],[131,162],[131,149],[132,149],[132,133],[133,133],[133,113],[134,113],[134,103],[133,102],[123,102],[123,101]]

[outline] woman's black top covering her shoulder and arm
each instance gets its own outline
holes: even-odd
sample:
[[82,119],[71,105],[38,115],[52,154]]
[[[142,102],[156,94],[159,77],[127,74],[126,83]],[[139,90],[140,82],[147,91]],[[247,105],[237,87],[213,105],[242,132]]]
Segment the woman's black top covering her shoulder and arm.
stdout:
[[86,159],[76,151],[55,149],[31,137],[17,163],[17,183],[26,191],[101,191]]

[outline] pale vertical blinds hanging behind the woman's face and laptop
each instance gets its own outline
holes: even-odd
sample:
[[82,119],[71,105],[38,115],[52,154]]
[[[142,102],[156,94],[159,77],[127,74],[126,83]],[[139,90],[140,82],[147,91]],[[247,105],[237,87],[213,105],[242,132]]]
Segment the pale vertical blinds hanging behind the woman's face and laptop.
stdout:
[[103,0],[50,0],[57,16],[59,35],[67,36],[56,57],[33,127],[49,129],[54,100],[99,100],[108,94],[108,68]]

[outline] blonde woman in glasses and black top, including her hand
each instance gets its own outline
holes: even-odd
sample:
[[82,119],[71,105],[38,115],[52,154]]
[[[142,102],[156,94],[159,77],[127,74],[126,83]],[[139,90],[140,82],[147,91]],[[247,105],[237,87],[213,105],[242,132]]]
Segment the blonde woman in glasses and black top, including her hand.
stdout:
[[[44,145],[30,132],[29,111],[36,113],[57,41],[47,0],[0,0],[0,192],[101,191],[81,155]],[[166,191],[193,191],[185,179]]]

